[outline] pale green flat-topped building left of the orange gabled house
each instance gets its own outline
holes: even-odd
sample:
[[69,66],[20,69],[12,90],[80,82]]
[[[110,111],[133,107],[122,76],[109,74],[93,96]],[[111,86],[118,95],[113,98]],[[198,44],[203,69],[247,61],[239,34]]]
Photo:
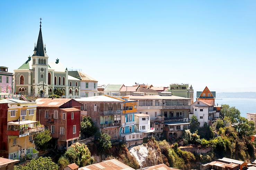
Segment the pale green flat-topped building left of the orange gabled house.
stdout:
[[191,103],[194,102],[194,90],[192,85],[189,87],[189,84],[170,84],[168,91],[174,96],[190,98]]

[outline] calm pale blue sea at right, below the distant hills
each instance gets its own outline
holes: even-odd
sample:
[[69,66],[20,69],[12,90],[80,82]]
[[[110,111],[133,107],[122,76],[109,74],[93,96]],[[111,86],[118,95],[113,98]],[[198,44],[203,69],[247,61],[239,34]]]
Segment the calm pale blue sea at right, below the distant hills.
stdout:
[[230,107],[235,106],[241,116],[246,118],[246,113],[256,112],[256,99],[215,99],[215,104],[228,104]]

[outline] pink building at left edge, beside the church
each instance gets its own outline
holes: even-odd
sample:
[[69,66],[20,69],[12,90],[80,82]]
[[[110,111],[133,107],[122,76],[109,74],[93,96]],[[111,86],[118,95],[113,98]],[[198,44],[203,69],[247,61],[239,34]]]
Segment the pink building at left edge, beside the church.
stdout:
[[8,67],[0,66],[0,93],[12,93],[12,73]]

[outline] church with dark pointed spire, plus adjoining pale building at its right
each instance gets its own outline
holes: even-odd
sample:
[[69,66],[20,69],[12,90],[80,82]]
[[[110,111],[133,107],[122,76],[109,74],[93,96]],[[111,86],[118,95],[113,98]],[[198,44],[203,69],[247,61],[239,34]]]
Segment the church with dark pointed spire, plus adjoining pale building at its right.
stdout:
[[[41,23],[40,19],[38,39],[32,57],[29,56],[24,64],[14,70],[14,93],[31,97],[48,97],[54,94],[54,89],[61,89],[64,91],[62,97],[96,96],[97,80],[85,73],[83,75],[87,76],[86,79],[81,78],[79,74],[74,74],[74,71],[69,73],[67,67],[63,67],[58,58],[55,62],[48,62]],[[85,84],[82,86],[84,89],[80,88],[81,83]]]

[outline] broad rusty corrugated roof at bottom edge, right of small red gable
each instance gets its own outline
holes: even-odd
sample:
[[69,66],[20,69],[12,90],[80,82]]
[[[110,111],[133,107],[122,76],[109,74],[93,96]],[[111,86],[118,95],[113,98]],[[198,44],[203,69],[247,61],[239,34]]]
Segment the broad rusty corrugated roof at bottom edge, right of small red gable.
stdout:
[[85,167],[78,168],[79,170],[134,170],[126,164],[116,160],[106,160],[103,162],[91,164]]

